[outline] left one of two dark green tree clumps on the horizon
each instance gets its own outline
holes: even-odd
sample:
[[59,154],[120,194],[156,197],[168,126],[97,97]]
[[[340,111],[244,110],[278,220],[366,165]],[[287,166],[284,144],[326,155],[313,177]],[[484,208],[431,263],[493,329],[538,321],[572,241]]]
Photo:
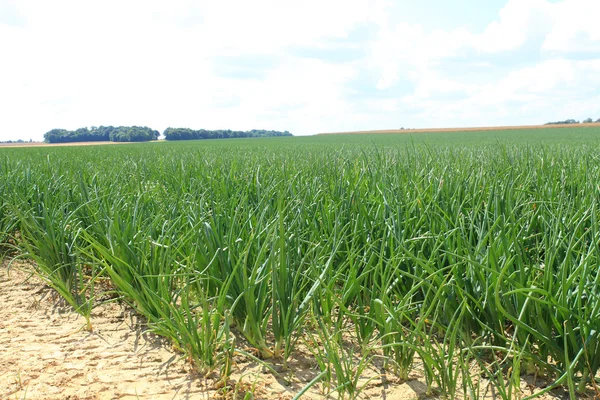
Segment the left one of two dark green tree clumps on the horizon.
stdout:
[[92,126],[74,131],[52,129],[44,134],[47,143],[71,142],[147,142],[156,140],[160,133],[147,126]]

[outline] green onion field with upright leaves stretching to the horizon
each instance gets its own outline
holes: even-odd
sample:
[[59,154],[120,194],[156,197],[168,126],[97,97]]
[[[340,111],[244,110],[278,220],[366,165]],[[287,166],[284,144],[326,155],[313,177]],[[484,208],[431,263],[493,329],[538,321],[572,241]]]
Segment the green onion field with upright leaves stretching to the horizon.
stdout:
[[[600,128],[0,149],[0,242],[88,320],[121,301],[201,374],[360,395],[593,392]],[[297,397],[304,394],[297,393]],[[527,394],[530,396],[530,394]],[[523,397],[526,397],[523,395]]]

